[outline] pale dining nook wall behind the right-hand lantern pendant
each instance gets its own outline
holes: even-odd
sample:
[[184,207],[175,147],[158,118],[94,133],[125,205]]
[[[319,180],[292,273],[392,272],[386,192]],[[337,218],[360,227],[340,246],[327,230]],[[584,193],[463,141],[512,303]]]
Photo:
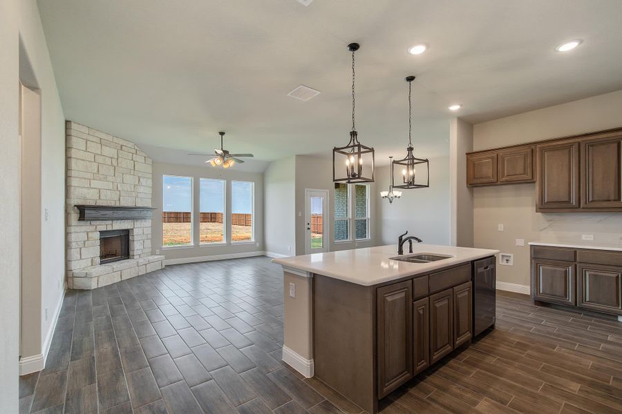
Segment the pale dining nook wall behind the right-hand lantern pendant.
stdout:
[[[449,148],[448,148],[449,151]],[[378,191],[388,188],[390,168],[376,170]],[[399,179],[397,171],[396,180]],[[408,230],[426,244],[451,244],[449,154],[430,159],[430,186],[402,190],[402,198],[381,199],[378,194],[380,244],[397,244],[397,237]]]

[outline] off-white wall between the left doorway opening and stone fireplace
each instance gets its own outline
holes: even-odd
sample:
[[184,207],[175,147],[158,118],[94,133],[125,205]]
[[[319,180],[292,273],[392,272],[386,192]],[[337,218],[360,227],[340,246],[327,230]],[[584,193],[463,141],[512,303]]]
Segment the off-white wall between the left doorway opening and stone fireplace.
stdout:
[[26,86],[41,92],[41,216],[33,219],[41,220],[41,307],[38,311],[41,313],[41,351],[46,355],[64,292],[65,118],[37,2],[24,0],[19,5],[19,75]]

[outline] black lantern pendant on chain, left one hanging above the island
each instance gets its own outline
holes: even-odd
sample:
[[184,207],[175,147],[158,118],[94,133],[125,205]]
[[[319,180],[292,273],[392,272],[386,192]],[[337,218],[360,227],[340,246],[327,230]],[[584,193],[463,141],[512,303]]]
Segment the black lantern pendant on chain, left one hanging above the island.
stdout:
[[335,183],[373,183],[374,148],[359,142],[355,128],[355,52],[359,43],[350,43],[352,52],[352,130],[350,142],[343,147],[332,148],[332,181]]

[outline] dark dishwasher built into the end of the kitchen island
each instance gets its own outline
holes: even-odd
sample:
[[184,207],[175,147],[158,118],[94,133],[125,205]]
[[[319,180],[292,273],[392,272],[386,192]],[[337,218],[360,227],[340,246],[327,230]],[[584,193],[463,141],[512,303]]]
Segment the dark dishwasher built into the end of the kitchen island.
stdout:
[[473,337],[494,326],[496,319],[495,257],[473,262]]

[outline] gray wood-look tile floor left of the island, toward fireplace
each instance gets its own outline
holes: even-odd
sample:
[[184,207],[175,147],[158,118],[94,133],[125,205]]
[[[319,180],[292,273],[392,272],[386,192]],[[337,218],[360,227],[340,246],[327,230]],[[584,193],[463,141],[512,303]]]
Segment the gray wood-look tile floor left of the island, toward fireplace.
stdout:
[[282,345],[283,276],[267,257],[68,290],[46,368],[20,378],[20,410],[339,412],[311,386],[321,384],[284,367]]

